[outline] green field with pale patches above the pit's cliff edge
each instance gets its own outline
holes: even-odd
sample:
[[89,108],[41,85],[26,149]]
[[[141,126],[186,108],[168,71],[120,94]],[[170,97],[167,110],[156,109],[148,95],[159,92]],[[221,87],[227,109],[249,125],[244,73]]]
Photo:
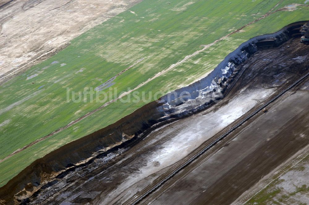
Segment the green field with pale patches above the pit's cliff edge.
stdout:
[[[67,88],[75,92],[96,88],[143,59],[102,90],[114,92],[107,101],[128,88],[167,93],[205,77],[246,40],[278,31],[289,23],[309,20],[309,7],[301,4],[304,0],[144,0],[1,86],[0,159],[104,104],[72,99],[67,102]],[[258,18],[261,19],[226,36]],[[216,40],[219,41],[212,44]],[[202,46],[207,44],[211,46]],[[171,66],[199,50],[186,61]],[[34,160],[116,122],[144,104],[112,102],[2,161],[0,186]]]

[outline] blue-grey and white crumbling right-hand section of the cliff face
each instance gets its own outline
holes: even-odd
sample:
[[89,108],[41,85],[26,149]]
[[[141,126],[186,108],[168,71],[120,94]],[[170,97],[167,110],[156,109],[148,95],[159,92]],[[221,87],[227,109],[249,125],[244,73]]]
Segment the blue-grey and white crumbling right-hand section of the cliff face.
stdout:
[[163,105],[158,107],[158,111],[164,112],[163,119],[181,117],[200,111],[223,98],[241,70],[241,68],[237,68],[237,65],[247,61],[252,54],[258,51],[259,48],[256,44],[266,40],[269,42],[269,47],[279,46],[291,38],[289,30],[294,27],[293,24],[293,26],[285,27],[274,34],[258,36],[248,40],[226,56],[224,61],[206,77],[161,97],[159,102],[163,103]]

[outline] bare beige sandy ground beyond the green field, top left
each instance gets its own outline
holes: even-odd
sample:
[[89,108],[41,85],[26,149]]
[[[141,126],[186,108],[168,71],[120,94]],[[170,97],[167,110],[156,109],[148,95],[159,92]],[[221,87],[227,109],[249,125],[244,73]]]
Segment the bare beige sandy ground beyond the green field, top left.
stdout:
[[142,0],[0,1],[0,83]]

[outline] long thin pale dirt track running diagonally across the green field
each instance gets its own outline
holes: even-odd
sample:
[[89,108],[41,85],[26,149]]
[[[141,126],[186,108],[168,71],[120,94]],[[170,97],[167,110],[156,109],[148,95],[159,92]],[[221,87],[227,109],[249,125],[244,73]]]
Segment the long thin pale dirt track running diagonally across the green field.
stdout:
[[[8,155],[7,157],[5,157],[4,159],[0,160],[0,163],[1,163],[2,161],[5,161],[6,159],[12,157],[13,155],[15,155],[15,154],[17,154],[17,153],[23,151],[24,149],[27,149],[28,147],[31,147],[33,144],[36,144],[36,143],[38,143],[38,142],[40,142],[40,141],[42,141],[42,140],[45,140],[46,138],[48,138],[48,137],[50,137],[50,136],[53,136],[53,135],[55,135],[55,134],[61,132],[62,130],[66,129],[66,128],[69,128],[70,126],[72,126],[72,125],[78,123],[79,121],[81,121],[82,119],[88,117],[89,115],[92,115],[92,114],[95,113],[96,111],[99,111],[99,110],[101,110],[102,108],[108,106],[108,105],[111,104],[112,102],[115,102],[115,101],[121,99],[122,97],[124,97],[125,95],[130,94],[131,92],[133,92],[133,91],[139,89],[140,87],[146,85],[148,82],[152,81],[153,79],[155,79],[155,78],[157,78],[157,77],[159,77],[159,76],[161,76],[161,75],[167,73],[167,72],[170,71],[171,69],[176,68],[178,65],[181,65],[182,63],[188,61],[189,59],[193,58],[194,56],[196,56],[196,55],[199,54],[200,52],[205,51],[207,48],[213,46],[214,44],[218,43],[219,41],[225,40],[226,38],[228,38],[228,37],[231,36],[232,34],[234,34],[234,33],[238,32],[238,31],[242,30],[243,28],[245,28],[245,27],[251,25],[252,23],[256,23],[257,21],[259,21],[259,20],[261,20],[261,19],[264,19],[265,17],[269,16],[270,14],[276,12],[277,10],[274,11],[274,12],[272,12],[272,11],[273,11],[281,2],[282,2],[282,0],[281,0],[280,2],[278,2],[271,10],[269,10],[269,12],[267,12],[265,15],[261,16],[260,18],[255,19],[254,21],[252,21],[252,22],[250,22],[250,23],[248,23],[248,24],[246,24],[246,25],[240,27],[239,29],[237,29],[237,30],[235,30],[235,31],[233,31],[233,32],[231,32],[231,33],[229,33],[229,34],[227,34],[226,36],[221,37],[221,38],[218,39],[218,40],[215,40],[214,42],[212,42],[212,43],[210,43],[210,44],[203,45],[204,48],[202,48],[201,50],[198,50],[198,51],[192,53],[191,55],[188,55],[188,56],[184,57],[184,59],[182,59],[181,61],[178,61],[176,64],[170,65],[167,69],[164,69],[162,72],[157,73],[154,77],[149,78],[147,81],[142,82],[141,84],[139,84],[139,85],[138,85],[137,87],[135,87],[134,89],[129,90],[129,91],[127,91],[127,92],[125,92],[125,93],[119,95],[117,98],[115,98],[115,99],[113,99],[113,100],[111,100],[111,101],[109,101],[109,102],[106,102],[104,105],[102,105],[102,106],[96,108],[95,110],[93,110],[93,111],[91,111],[91,112],[88,112],[86,115],[83,115],[82,117],[80,117],[80,118],[78,118],[78,119],[76,119],[76,120],[70,122],[70,123],[67,124],[65,127],[59,128],[59,129],[57,129],[56,131],[51,132],[49,135],[44,136],[44,137],[42,137],[42,138],[40,138],[40,139],[38,139],[38,140],[35,140],[34,142],[32,142],[32,143],[30,143],[30,144],[24,146],[23,148],[16,150],[15,152],[11,153],[10,155]],[[139,61],[141,61],[141,60],[139,60]],[[139,62],[139,61],[138,61],[138,62]]]

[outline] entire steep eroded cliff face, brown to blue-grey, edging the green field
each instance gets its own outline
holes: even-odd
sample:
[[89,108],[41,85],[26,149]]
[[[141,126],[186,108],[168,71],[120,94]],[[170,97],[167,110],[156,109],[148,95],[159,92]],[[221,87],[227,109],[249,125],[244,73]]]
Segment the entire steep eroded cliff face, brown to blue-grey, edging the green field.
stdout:
[[[269,40],[278,46],[291,38],[294,23],[282,30],[248,40],[230,53],[207,77],[166,94],[118,122],[36,160],[0,189],[0,202],[4,204],[28,203],[41,190],[58,183],[74,170],[90,164],[102,164],[128,149],[151,130],[175,119],[191,115],[209,107],[228,93],[242,74],[242,62],[258,51],[257,44]],[[91,172],[91,166],[86,172]]]

